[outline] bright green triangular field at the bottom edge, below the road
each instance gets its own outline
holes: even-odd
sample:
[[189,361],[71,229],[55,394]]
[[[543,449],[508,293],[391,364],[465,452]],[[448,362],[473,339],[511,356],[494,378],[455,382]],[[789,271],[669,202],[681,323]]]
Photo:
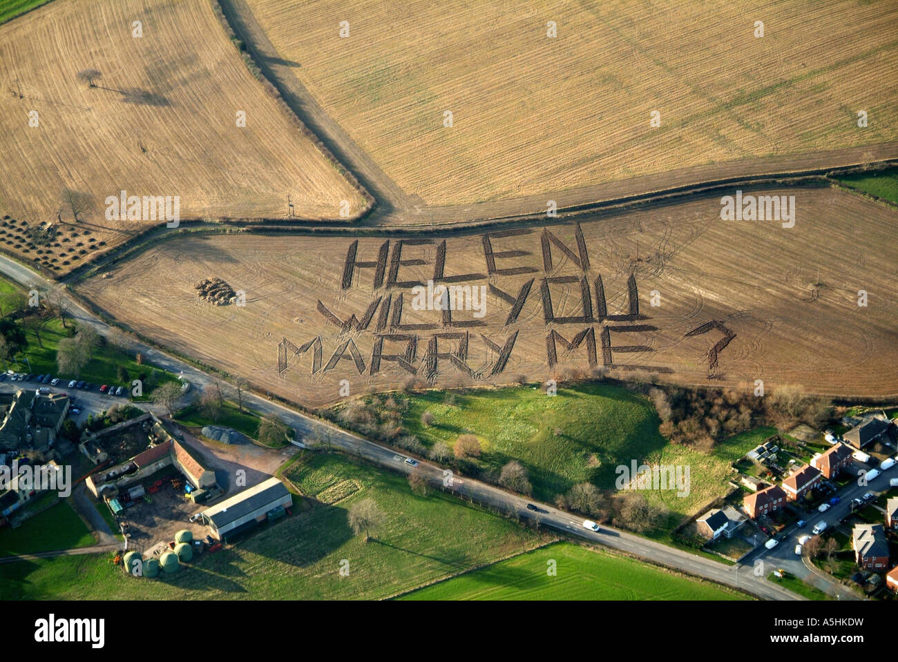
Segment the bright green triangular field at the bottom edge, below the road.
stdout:
[[[551,562],[556,575],[550,576]],[[740,600],[742,594],[659,568],[559,543],[468,572],[402,600]]]

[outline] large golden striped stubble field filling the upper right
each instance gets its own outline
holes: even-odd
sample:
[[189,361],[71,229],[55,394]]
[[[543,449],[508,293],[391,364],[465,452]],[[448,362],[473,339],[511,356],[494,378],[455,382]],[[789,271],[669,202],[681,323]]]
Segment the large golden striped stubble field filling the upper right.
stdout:
[[233,4],[418,204],[898,140],[892,0]]

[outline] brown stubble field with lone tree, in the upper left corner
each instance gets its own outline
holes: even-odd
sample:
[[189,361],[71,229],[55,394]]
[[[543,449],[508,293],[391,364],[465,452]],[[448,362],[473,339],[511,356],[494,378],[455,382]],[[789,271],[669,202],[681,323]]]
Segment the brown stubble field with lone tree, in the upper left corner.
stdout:
[[[89,68],[97,87],[78,78]],[[207,0],[57,0],[0,27],[0,86],[0,215],[15,221],[4,218],[0,248],[57,272],[157,222],[106,220],[105,198],[120,190],[180,196],[182,219],[282,217],[288,195],[304,218],[337,219],[341,200],[364,209]],[[91,239],[74,248],[74,231]]]

